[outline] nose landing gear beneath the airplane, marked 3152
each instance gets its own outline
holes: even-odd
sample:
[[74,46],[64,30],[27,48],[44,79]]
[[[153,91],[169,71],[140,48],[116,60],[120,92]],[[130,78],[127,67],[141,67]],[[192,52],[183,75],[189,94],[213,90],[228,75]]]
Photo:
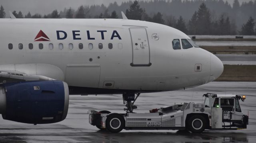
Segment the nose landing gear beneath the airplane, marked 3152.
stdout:
[[[136,98],[135,98],[135,94],[136,94]],[[133,113],[133,110],[137,109],[137,106],[134,105],[134,102],[137,100],[139,96],[140,96],[140,93],[123,93],[123,101],[124,101],[124,104],[126,104],[125,105],[126,108],[124,108],[124,111]]]

